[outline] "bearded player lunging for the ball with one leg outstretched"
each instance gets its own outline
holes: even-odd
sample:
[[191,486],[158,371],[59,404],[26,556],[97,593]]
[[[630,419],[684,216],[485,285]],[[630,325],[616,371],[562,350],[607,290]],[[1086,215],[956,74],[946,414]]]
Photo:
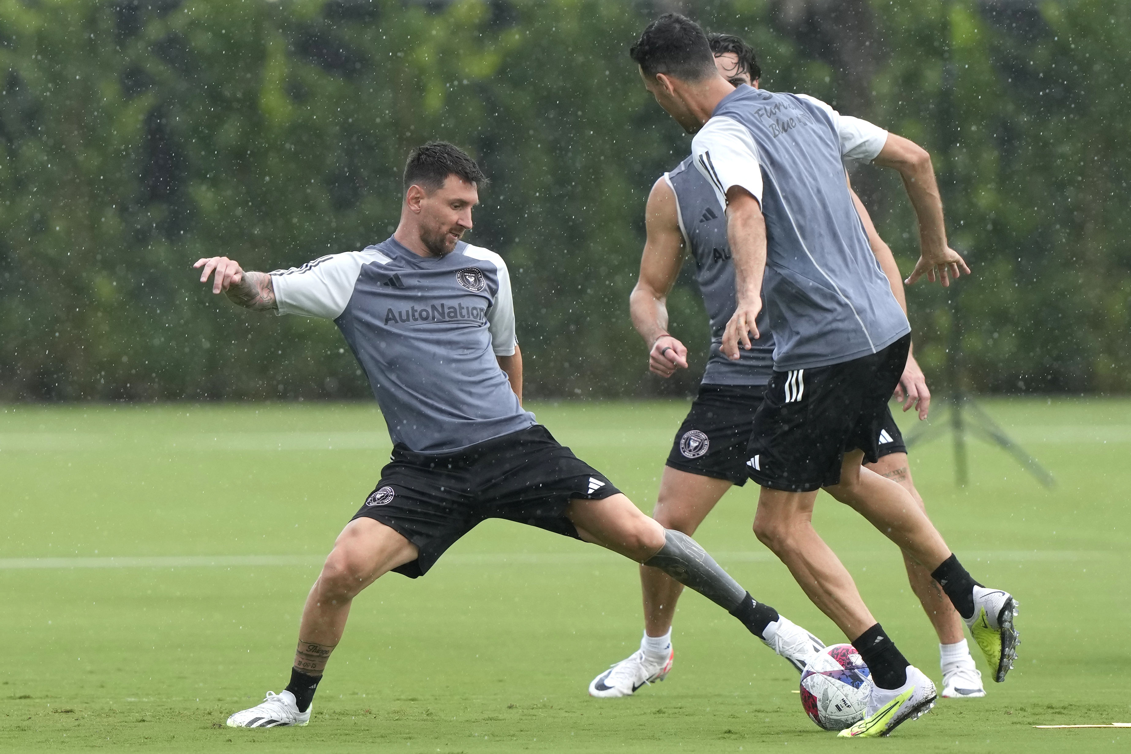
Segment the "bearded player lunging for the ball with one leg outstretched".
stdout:
[[[521,407],[523,357],[501,257],[460,240],[485,181],[442,141],[405,166],[400,223],[362,251],[275,272],[201,259],[200,281],[247,309],[333,319],[369,376],[392,459],[307,598],[286,688],[232,714],[245,728],[307,725],[354,597],[382,574],[428,572],[480,521],[501,518],[662,569],[803,667],[822,644],[756,603],[694,540],[641,513]],[[777,638],[780,634],[780,640]]]

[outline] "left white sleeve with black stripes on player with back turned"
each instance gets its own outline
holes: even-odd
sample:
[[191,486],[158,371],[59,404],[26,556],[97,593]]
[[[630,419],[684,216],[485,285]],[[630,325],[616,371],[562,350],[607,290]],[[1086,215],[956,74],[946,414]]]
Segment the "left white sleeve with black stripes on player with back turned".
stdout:
[[691,154],[723,207],[726,207],[726,190],[732,185],[741,185],[762,203],[758,146],[745,125],[725,115],[710,119],[691,140]]

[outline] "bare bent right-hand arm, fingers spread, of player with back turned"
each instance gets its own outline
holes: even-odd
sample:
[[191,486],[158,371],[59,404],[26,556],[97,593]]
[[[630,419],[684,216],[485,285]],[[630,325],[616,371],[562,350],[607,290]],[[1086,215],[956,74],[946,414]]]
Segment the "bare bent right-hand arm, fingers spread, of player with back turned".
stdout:
[[962,258],[947,243],[947,228],[942,219],[942,199],[934,179],[934,166],[926,149],[909,139],[895,133],[888,135],[883,149],[872,161],[877,165],[891,167],[904,179],[920,225],[921,257],[915,269],[907,277],[910,285],[926,275],[931,283],[938,280],[944,286],[960,272],[970,274]]

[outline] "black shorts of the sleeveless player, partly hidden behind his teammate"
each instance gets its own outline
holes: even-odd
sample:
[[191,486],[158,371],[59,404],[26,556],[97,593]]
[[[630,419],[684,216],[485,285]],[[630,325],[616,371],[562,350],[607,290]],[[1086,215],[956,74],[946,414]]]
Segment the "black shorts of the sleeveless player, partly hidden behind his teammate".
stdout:
[[[701,384],[667,454],[673,469],[746,484],[750,433],[762,405],[765,385]],[[888,409],[877,441],[880,458],[906,453],[907,445]]]

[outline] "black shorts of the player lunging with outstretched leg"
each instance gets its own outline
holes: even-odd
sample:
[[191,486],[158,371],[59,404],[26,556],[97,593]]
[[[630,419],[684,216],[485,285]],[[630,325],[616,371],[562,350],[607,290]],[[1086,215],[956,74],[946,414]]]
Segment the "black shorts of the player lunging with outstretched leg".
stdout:
[[354,518],[380,521],[416,545],[417,558],[394,569],[415,579],[480,521],[507,519],[576,538],[569,502],[619,492],[536,424],[451,453],[396,445]]

